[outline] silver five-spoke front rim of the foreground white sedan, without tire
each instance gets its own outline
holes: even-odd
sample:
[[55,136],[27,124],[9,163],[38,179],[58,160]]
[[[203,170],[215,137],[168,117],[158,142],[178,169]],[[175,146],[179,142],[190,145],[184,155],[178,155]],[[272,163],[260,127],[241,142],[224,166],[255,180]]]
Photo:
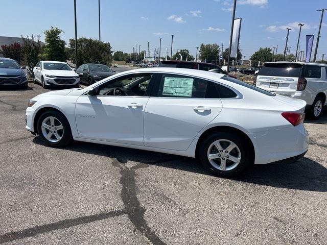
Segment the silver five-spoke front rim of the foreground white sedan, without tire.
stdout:
[[61,122],[54,116],[44,118],[41,130],[44,138],[53,143],[60,141],[64,133]]

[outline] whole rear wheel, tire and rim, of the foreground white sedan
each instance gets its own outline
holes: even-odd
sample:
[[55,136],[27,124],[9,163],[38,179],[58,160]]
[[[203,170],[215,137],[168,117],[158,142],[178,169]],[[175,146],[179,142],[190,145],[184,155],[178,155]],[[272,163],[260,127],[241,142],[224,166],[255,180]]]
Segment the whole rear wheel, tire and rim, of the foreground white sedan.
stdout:
[[199,148],[202,165],[219,177],[237,176],[250,163],[246,141],[233,132],[217,132],[206,137]]

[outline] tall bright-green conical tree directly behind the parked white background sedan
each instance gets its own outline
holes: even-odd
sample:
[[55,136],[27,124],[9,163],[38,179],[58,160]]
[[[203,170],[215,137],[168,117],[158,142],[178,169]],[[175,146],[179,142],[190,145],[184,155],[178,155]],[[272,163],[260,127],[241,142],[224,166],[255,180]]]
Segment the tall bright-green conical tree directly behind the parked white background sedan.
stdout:
[[45,31],[45,46],[44,57],[47,60],[66,61],[64,40],[60,39],[62,30],[51,27],[50,30]]

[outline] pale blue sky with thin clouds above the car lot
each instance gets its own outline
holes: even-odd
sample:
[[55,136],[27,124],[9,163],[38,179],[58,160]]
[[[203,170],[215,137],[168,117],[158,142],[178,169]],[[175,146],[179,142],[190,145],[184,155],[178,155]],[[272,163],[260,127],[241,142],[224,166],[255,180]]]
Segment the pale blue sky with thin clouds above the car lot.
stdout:
[[[73,0],[2,0],[0,36],[41,35],[51,26],[62,29],[66,42],[74,38]],[[135,43],[153,52],[167,46],[170,53],[187,48],[195,56],[201,43],[228,46],[232,0],[101,0],[101,40],[110,42],[114,51],[130,53]],[[259,47],[285,47],[286,28],[290,32],[291,53],[295,52],[299,22],[302,28],[300,50],[305,50],[305,35],[318,33],[320,13],[326,0],[238,0],[236,17],[242,17],[240,48],[249,58]],[[327,11],[323,19],[317,58],[327,54]],[[98,0],[77,0],[78,37],[98,39]],[[325,56],[327,57],[327,55]]]

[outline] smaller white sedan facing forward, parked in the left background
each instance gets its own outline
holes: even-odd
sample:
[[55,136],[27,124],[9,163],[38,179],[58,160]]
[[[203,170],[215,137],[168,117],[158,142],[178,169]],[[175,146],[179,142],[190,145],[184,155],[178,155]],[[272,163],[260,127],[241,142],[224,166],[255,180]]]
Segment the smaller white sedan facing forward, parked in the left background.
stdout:
[[79,87],[80,77],[65,62],[40,61],[33,68],[33,82],[40,83],[43,88],[49,86]]

